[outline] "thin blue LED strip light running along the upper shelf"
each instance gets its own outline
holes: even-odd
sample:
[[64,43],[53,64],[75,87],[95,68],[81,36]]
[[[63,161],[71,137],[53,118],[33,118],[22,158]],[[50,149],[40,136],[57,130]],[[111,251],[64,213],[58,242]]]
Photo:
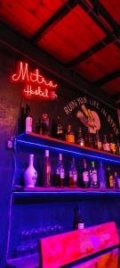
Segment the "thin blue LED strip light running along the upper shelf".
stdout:
[[59,147],[52,147],[52,146],[47,146],[47,145],[42,145],[42,144],[38,144],[35,142],[30,142],[30,141],[25,141],[25,140],[21,140],[21,139],[17,139],[17,143],[22,143],[22,144],[26,144],[26,145],[32,145],[32,146],[36,146],[36,147],[43,147],[43,148],[50,148],[53,150],[57,150],[57,151],[62,151],[62,152],[66,152],[66,153],[72,153],[75,155],[84,155],[87,157],[92,157],[92,158],[96,158],[96,159],[100,159],[100,160],[104,160],[104,161],[108,161],[108,162],[112,162],[112,163],[120,163],[120,160],[113,160],[113,159],[109,159],[106,157],[101,157],[101,156],[97,156],[97,155],[88,155],[88,154],[84,154],[84,153],[78,153],[76,151],[71,151],[71,150],[67,150],[67,149],[63,149],[63,148],[59,148]]

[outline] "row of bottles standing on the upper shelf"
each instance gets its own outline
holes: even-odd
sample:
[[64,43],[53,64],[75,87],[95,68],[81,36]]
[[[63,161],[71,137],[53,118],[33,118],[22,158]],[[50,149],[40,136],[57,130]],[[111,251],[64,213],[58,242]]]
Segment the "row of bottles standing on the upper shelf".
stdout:
[[[20,118],[18,121],[18,134],[22,132],[33,131],[33,120],[30,106],[27,105],[24,111],[24,107],[21,107]],[[120,144],[118,140],[115,140],[113,133],[109,136],[103,135],[100,137],[99,132],[96,134],[84,133],[81,128],[75,131],[72,130],[70,124],[65,128],[60,116],[57,116],[55,121],[52,121],[52,130],[50,131],[50,120],[46,113],[42,114],[42,118],[36,122],[36,133],[45,136],[52,136],[53,138],[59,138],[66,140],[69,143],[76,143],[83,147],[91,147],[98,150],[102,150],[108,153],[120,155]]]

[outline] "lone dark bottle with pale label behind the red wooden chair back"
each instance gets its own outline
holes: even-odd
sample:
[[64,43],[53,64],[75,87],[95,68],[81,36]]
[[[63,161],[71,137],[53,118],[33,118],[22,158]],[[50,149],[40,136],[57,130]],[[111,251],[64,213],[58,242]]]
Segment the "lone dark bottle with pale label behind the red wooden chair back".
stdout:
[[81,217],[79,207],[76,206],[74,209],[74,230],[83,230],[84,220]]

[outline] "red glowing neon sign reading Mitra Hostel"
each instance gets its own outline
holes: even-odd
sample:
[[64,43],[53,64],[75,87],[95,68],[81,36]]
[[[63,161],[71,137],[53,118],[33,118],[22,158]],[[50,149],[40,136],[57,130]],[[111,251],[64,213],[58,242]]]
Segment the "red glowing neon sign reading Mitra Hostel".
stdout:
[[12,81],[24,83],[22,94],[27,98],[55,99],[58,97],[54,91],[58,85],[52,80],[45,80],[38,69],[29,71],[28,63],[18,63],[18,71],[12,74]]

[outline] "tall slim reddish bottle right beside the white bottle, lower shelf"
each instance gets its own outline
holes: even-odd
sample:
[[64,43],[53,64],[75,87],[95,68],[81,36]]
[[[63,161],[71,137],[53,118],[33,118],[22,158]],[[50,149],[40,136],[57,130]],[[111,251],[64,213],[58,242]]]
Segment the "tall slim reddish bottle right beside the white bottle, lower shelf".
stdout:
[[49,158],[49,150],[45,150],[44,155],[44,187],[51,186],[51,164]]

